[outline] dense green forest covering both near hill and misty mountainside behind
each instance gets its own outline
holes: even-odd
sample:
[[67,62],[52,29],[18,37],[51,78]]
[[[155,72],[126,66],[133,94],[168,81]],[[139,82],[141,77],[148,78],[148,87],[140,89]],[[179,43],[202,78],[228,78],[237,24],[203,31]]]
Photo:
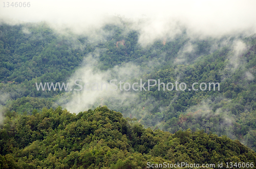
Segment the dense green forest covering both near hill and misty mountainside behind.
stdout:
[[[119,19],[125,26],[104,25],[103,38],[96,40],[57,33],[45,22],[0,23],[1,166],[255,162],[256,36],[193,39],[184,29],[173,39],[142,46],[140,32]],[[246,47],[240,50],[239,43]],[[126,82],[142,79],[146,91],[127,91],[135,97],[122,104],[104,99],[103,105],[115,111],[98,107],[99,98],[90,110],[71,114],[58,107],[65,91],[36,89],[35,82],[67,82],[89,55],[101,72],[126,63],[145,70]],[[218,82],[220,90],[215,85],[216,91],[168,91],[157,84],[148,91],[148,79],[178,80],[187,89],[194,82]]]

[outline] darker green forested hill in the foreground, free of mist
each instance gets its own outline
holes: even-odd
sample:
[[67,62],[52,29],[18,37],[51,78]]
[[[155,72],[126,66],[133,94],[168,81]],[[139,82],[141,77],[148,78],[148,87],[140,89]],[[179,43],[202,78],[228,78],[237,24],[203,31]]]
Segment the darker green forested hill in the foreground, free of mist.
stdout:
[[147,168],[164,162],[256,168],[256,153],[238,140],[189,129],[145,129],[106,106],[77,115],[58,107],[6,116],[1,168]]

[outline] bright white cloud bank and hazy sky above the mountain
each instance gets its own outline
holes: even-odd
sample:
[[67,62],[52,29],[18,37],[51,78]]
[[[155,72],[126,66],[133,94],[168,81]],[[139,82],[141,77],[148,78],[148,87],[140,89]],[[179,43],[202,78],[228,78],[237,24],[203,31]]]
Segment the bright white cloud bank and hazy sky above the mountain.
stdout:
[[7,6],[7,2],[11,5],[13,1],[0,2],[0,19],[9,23],[48,21],[55,26],[66,24],[79,31],[89,25],[101,26],[109,21],[106,16],[120,14],[135,22],[138,18],[150,18],[146,24],[139,25],[139,29],[142,33],[156,36],[173,32],[177,21],[187,26],[191,34],[198,35],[256,32],[256,1],[32,0],[29,8],[4,8],[4,3]]

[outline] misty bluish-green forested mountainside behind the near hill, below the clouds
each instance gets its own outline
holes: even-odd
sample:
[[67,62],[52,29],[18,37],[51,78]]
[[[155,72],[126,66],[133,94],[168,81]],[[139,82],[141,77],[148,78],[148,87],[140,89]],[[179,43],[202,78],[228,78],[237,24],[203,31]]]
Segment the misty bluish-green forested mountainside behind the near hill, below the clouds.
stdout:
[[[145,47],[138,42],[140,32],[116,19],[125,26],[106,24],[101,28],[102,39],[94,40],[57,33],[44,22],[1,23],[1,109],[31,115],[34,109],[58,105],[75,113],[107,105],[145,127],[170,133],[203,129],[239,139],[256,150],[255,35],[191,39],[184,29],[173,39],[159,39]],[[59,88],[42,91],[36,86],[75,78],[83,84],[99,79],[140,84],[141,79],[145,90],[124,91],[122,86],[123,91],[115,93],[79,93]],[[149,91],[148,79],[157,81]],[[158,86],[158,79],[165,89]],[[168,91],[166,84],[175,81],[190,89],[194,82],[198,82],[196,89],[200,83],[220,85],[215,85],[215,91],[213,86],[210,91]]]

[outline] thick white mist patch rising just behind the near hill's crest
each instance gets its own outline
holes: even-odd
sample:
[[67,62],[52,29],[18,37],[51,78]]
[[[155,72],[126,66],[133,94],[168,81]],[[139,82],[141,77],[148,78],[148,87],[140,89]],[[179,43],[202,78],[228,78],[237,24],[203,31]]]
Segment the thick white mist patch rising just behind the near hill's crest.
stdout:
[[[93,58],[94,57],[94,58]],[[96,58],[96,59],[95,59]],[[132,84],[141,75],[139,67],[132,63],[127,63],[121,66],[116,66],[112,70],[100,71],[97,69],[97,53],[89,54],[84,60],[86,63],[80,67],[68,80],[70,82],[76,81],[81,85],[81,91],[74,91],[74,89],[81,89],[74,83],[69,86],[69,90],[57,104],[62,104],[63,107],[67,108],[71,112],[85,111],[92,108],[94,105],[107,105],[109,108],[118,108],[125,105],[130,105],[134,102],[138,96],[133,92]],[[118,86],[116,90],[114,86],[110,85],[110,80]],[[129,81],[127,81],[129,80]],[[119,81],[122,81],[122,88],[120,90]],[[125,82],[130,83],[130,91],[124,91],[123,85]],[[137,81],[136,81],[137,82]],[[85,86],[84,86],[85,85]],[[106,89],[106,85],[108,86]],[[125,86],[128,89],[128,85]],[[135,86],[138,88],[138,85]]]

